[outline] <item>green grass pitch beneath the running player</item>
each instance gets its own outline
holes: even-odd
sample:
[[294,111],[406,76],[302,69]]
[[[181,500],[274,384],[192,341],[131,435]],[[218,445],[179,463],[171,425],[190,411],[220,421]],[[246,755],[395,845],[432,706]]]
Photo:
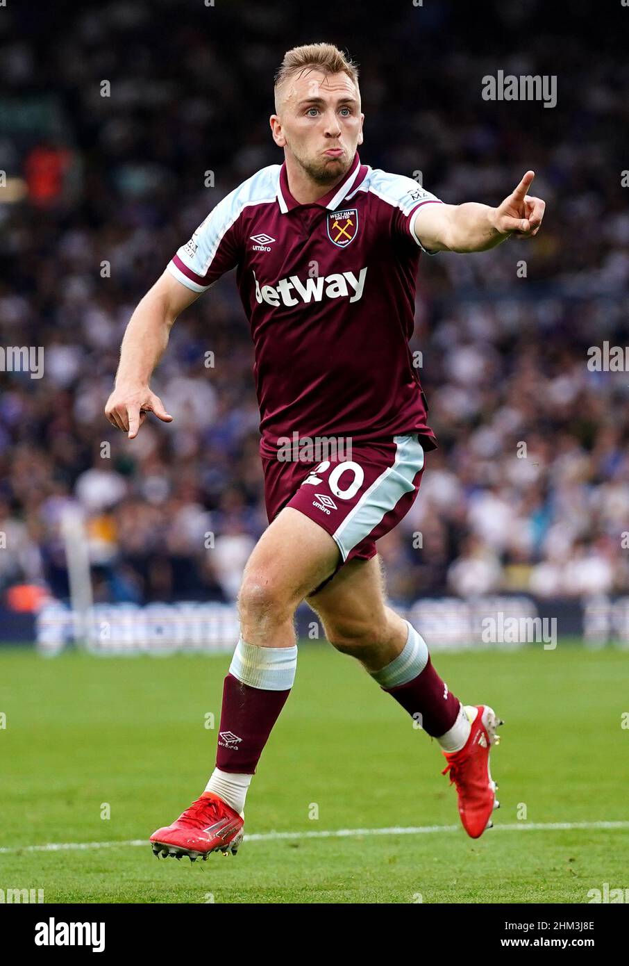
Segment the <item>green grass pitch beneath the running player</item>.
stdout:
[[[0,888],[46,902],[583,903],[629,886],[629,655],[565,640],[434,656],[454,694],[506,722],[501,809],[479,840],[458,826],[436,743],[356,662],[309,643],[249,793],[254,838],[236,857],[156,860],[131,842],[203,790],[229,662],[0,649]],[[624,827],[590,827],[606,822]],[[556,823],[588,827],[538,827]],[[352,834],[312,835],[337,830]]]

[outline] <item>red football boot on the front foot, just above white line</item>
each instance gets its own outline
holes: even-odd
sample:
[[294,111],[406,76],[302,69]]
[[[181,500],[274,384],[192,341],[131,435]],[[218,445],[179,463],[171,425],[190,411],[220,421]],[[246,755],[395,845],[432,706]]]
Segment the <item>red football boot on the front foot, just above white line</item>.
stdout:
[[204,792],[176,822],[157,829],[150,837],[153,854],[159,858],[187,855],[190,862],[207,859],[210,852],[235,855],[242,842],[243,819],[222,798]]

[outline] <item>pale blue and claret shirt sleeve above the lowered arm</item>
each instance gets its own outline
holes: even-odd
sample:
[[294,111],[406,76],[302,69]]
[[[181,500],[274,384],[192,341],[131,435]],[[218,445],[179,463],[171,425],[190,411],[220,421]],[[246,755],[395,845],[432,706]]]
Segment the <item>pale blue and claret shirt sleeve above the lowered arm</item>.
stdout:
[[238,219],[243,211],[234,189],[207,215],[190,241],[178,249],[168,270],[193,292],[205,292],[240,260]]

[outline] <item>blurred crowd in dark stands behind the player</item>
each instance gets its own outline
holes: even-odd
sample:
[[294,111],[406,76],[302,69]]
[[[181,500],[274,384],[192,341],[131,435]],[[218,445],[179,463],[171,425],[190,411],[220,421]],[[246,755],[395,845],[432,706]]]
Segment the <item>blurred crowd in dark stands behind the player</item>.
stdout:
[[[0,372],[2,592],[68,596],[73,510],[96,600],[234,597],[266,517],[233,278],[172,330],[152,384],[172,424],[129,442],[103,407],[139,298],[225,193],[281,162],[273,72],[318,39],[359,61],[364,162],[450,203],[497,204],[533,168],[547,202],[533,242],[421,261],[411,348],[439,448],[379,543],[391,595],[629,592],[629,375],[588,367],[589,347],[627,338],[629,62],[614,38],[584,56],[530,29],[533,0],[487,5],[493,46],[467,43],[452,4],[429,6],[377,7],[374,23],[325,21],[323,5],[321,31],[277,0],[3,11],[0,109],[17,120],[0,169],[27,192],[0,199],[0,341],[43,347],[44,368]],[[499,69],[557,74],[557,107],[482,100]]]

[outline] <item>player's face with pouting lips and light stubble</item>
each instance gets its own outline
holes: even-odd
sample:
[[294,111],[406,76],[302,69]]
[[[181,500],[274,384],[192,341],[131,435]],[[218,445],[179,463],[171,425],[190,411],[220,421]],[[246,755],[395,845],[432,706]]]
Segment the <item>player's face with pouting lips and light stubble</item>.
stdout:
[[346,73],[304,71],[278,91],[271,118],[276,144],[317,185],[339,181],[363,143],[360,94]]

